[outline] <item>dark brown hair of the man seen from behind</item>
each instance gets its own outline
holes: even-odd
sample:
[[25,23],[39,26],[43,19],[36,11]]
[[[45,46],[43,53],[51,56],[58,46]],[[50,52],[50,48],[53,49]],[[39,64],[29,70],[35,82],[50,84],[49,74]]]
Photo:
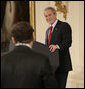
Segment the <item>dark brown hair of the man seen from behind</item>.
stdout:
[[33,28],[27,22],[18,22],[12,28],[11,36],[15,42],[29,43],[33,39]]

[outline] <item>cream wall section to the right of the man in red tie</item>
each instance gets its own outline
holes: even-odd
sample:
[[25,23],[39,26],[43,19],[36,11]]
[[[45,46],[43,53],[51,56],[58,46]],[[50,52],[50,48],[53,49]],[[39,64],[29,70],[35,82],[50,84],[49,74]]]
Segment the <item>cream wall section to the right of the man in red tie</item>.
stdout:
[[72,47],[70,48],[73,72],[68,79],[68,87],[84,87],[84,2],[71,1],[67,22],[72,27]]

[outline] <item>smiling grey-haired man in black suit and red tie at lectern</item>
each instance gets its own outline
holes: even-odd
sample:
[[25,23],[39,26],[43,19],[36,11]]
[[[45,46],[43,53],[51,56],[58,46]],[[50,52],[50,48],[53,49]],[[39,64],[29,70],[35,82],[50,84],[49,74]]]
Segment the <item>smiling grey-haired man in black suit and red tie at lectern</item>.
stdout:
[[59,88],[66,87],[68,72],[72,70],[69,47],[72,43],[72,31],[68,23],[56,18],[56,10],[48,7],[44,11],[46,21],[51,25],[46,31],[46,44],[50,51],[59,50],[59,68],[55,71]]

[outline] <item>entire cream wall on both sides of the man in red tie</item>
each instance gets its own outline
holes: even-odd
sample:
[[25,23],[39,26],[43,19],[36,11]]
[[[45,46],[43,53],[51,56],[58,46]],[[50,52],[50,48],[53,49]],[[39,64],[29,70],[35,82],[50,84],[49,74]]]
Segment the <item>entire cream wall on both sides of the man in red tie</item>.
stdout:
[[[36,1],[36,40],[44,43],[45,32],[49,24],[45,21],[44,9],[55,7],[54,1]],[[62,13],[57,13],[58,19],[65,21]],[[69,1],[67,20],[72,27],[72,47],[70,48],[73,71],[70,72],[67,87],[84,87],[84,2]]]

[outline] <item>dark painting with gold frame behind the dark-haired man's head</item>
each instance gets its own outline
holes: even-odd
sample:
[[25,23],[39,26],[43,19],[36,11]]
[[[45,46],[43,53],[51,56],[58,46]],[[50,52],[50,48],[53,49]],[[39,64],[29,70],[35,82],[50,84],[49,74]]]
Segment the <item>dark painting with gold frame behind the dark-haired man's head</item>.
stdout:
[[20,21],[26,21],[35,29],[34,1],[1,1],[1,54],[9,51],[11,28]]

